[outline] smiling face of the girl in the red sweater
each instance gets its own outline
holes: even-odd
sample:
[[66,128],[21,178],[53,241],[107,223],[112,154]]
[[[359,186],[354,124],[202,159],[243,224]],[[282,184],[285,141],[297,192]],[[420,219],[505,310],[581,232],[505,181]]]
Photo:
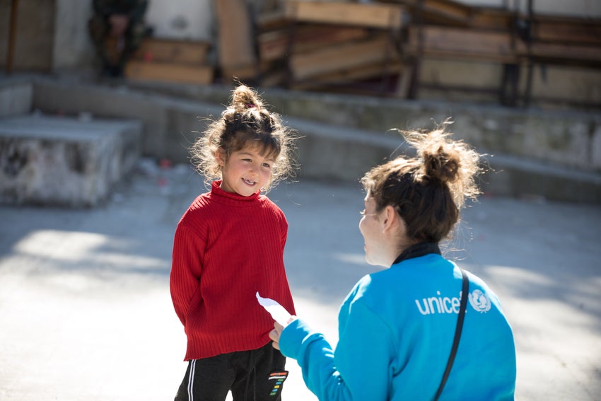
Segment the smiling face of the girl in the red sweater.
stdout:
[[261,156],[260,146],[245,146],[240,151],[232,152],[226,159],[223,151],[216,153],[221,165],[221,189],[249,197],[261,190],[272,178],[274,158]]

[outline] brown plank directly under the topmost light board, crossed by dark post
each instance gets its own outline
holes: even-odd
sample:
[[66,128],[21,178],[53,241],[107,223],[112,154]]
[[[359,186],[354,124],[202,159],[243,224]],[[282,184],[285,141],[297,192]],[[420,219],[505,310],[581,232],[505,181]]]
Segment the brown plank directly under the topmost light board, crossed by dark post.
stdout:
[[[293,35],[293,51],[308,52],[320,47],[365,39],[368,35],[368,30],[365,28],[303,25],[299,26]],[[291,40],[289,30],[275,30],[259,35],[257,37],[259,58],[262,61],[269,61],[286,57],[289,40]]]

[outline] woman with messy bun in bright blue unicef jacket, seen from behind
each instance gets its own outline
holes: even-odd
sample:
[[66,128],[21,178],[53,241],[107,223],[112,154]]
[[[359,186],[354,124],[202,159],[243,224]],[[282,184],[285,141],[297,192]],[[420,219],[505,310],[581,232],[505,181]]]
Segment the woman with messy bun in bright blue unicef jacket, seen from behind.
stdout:
[[474,274],[465,272],[464,281],[438,248],[465,198],[477,195],[479,155],[443,129],[407,140],[416,157],[396,158],[361,180],[366,260],[388,269],[363,277],[346,296],[336,351],[301,319],[275,323],[274,347],[298,361],[321,401],[513,400],[513,333],[498,298]]

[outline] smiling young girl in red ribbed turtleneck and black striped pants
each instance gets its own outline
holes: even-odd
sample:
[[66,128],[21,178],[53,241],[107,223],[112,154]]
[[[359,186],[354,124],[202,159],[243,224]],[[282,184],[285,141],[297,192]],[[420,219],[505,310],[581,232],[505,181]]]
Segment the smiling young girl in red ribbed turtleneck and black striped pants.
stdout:
[[270,344],[272,320],[255,294],[294,310],[283,259],[288,223],[260,194],[291,174],[292,141],[279,115],[240,85],[192,147],[212,182],[175,231],[170,290],[189,361],[175,400],[223,401],[229,390],[233,400],[280,399],[285,358]]

